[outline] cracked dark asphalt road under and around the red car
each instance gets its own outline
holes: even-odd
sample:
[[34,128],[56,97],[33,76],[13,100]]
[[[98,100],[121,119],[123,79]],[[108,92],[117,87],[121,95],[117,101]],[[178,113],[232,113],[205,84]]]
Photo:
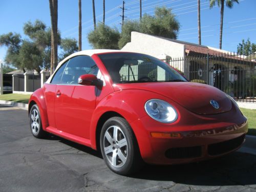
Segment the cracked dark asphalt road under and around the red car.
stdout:
[[144,167],[123,177],[101,156],[56,136],[34,138],[28,112],[0,105],[0,191],[256,191],[256,156]]

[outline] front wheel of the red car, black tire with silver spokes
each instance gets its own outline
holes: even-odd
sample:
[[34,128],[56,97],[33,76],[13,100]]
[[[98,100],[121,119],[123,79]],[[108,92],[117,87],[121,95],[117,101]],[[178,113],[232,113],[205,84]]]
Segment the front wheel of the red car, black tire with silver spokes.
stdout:
[[[110,143],[110,138],[107,139],[105,134],[109,133],[109,135],[112,136],[112,130],[113,137],[111,139],[113,139],[113,143]],[[116,143],[114,143],[114,130],[117,130]],[[125,144],[124,139],[126,139],[126,145],[122,146]],[[143,165],[135,135],[131,126],[124,118],[112,117],[103,124],[100,133],[100,148],[106,165],[117,174],[130,175],[137,172]],[[115,158],[113,156],[115,156]],[[113,159],[116,159],[116,161],[113,161]]]

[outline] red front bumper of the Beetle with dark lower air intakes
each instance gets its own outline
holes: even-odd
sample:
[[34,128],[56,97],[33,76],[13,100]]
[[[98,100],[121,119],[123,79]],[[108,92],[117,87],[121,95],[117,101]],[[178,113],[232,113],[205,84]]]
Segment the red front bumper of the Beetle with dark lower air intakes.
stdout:
[[[140,119],[132,124],[143,126],[148,118]],[[241,121],[240,121],[241,122]],[[202,161],[222,156],[237,150],[245,140],[248,131],[248,121],[244,117],[242,123],[232,123],[225,126],[212,124],[212,129],[194,131],[175,131],[180,133],[182,138],[154,138],[150,135],[151,129],[140,129],[138,143],[142,159],[150,164],[182,164],[195,161]],[[149,126],[148,124],[146,126]],[[158,131],[166,129],[159,129]],[[138,130],[137,130],[138,131]],[[135,132],[137,132],[135,131]],[[141,136],[144,136],[143,138]],[[138,137],[137,137],[138,138]]]

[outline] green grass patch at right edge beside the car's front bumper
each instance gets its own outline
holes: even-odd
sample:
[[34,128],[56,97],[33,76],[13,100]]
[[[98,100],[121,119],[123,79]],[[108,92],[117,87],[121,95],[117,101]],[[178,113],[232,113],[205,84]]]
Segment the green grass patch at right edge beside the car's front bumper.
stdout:
[[249,130],[248,135],[256,136],[256,110],[240,108],[242,113],[248,118]]

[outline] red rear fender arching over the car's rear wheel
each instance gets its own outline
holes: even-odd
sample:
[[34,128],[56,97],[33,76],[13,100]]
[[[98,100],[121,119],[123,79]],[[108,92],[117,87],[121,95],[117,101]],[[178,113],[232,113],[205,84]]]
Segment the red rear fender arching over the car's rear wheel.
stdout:
[[37,89],[29,99],[29,112],[32,107],[33,102],[35,102],[39,108],[39,112],[41,115],[41,123],[42,123],[42,129],[46,131],[46,127],[49,126],[48,122],[48,116],[47,116],[47,106],[46,106],[46,100],[45,100],[45,94],[44,91],[40,88]]

